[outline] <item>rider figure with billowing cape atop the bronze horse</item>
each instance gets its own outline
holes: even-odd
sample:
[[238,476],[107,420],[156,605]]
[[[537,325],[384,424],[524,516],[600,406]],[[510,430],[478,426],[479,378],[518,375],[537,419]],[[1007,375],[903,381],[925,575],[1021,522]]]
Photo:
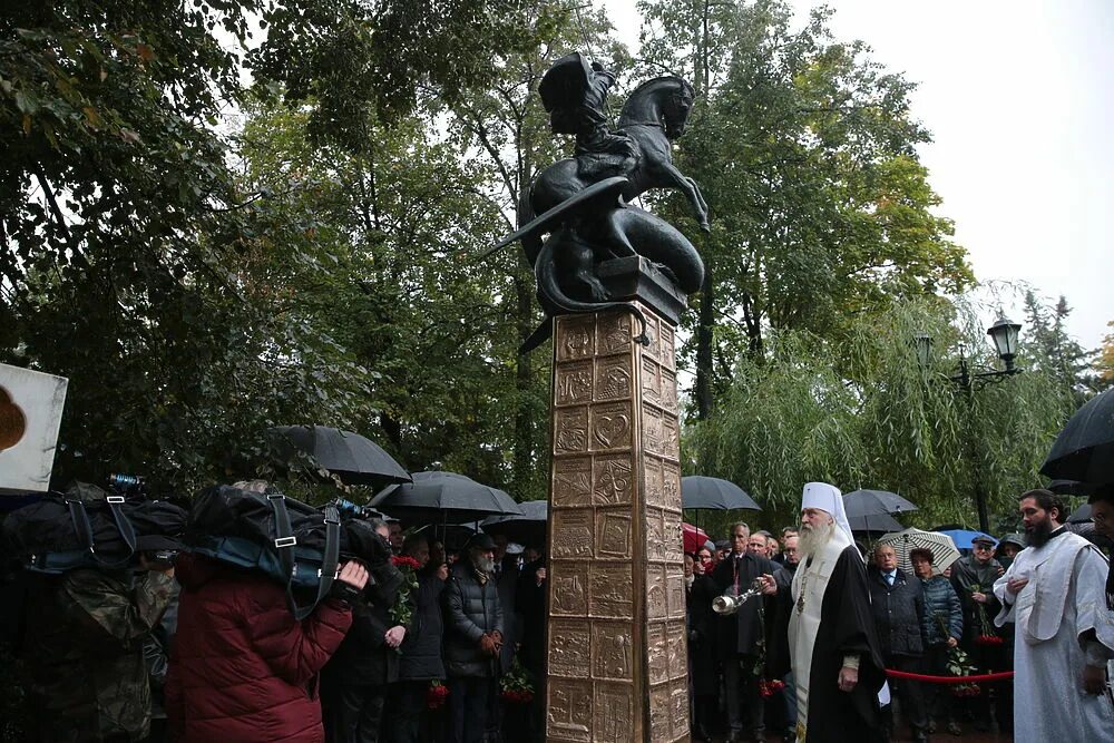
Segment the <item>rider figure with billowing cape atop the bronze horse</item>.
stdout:
[[607,91],[615,75],[580,52],[566,55],[541,78],[538,92],[555,134],[576,136],[577,175],[599,180],[626,175],[637,163],[634,143],[607,127]]

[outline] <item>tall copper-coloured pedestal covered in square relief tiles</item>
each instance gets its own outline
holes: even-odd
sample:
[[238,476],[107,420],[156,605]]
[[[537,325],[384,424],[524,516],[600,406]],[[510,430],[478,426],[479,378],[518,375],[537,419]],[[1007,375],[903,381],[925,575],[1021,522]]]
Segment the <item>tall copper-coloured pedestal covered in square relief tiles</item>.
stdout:
[[648,345],[624,310],[555,321],[550,743],[688,740],[675,316],[638,306]]

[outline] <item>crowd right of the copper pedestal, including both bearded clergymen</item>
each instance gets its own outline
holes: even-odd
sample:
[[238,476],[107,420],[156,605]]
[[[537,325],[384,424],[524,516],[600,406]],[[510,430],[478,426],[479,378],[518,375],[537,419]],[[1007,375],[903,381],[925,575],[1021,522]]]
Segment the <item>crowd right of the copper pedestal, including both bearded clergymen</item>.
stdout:
[[[1098,535],[1114,536],[1114,496],[1092,504]],[[1057,496],[1022,496],[1025,535],[979,535],[949,565],[912,549],[911,570],[892,544],[856,542],[832,486],[807,486],[801,514],[780,538],[739,522],[685,556],[694,740],[888,741],[896,720],[913,741],[994,725],[1034,742],[1114,730],[1108,563],[1067,530]],[[762,599],[713,610],[752,586]]]

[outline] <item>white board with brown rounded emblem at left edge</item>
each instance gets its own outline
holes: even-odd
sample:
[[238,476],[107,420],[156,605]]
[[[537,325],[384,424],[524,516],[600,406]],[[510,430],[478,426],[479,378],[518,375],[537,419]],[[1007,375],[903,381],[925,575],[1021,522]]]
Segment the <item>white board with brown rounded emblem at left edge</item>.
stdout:
[[48,489],[67,384],[0,364],[0,496]]

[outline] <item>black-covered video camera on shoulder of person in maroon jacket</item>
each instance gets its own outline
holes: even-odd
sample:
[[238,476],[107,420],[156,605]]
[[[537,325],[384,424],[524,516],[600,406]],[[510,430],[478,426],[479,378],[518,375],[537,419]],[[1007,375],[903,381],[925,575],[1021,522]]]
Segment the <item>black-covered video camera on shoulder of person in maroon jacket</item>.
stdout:
[[[260,571],[286,586],[299,620],[329,594],[345,549],[336,508],[326,506],[322,512],[274,489],[254,492],[226,485],[207,488],[194,499],[185,542],[190,553]],[[305,593],[312,602],[301,604]]]

